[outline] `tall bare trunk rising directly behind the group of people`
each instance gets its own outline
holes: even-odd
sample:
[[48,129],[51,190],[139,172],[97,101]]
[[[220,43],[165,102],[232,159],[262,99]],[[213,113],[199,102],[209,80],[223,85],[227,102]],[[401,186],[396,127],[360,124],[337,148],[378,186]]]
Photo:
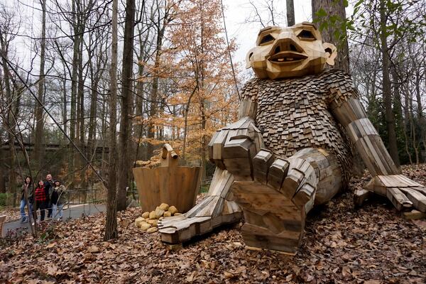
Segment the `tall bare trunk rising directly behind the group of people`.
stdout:
[[[40,42],[40,72],[38,75],[38,100],[44,104],[44,84],[45,84],[45,47],[46,47],[46,0],[41,0],[42,21],[41,21],[41,42]],[[43,176],[42,156],[43,156],[43,106],[35,102],[35,144],[34,144],[34,157],[38,165],[38,173],[40,177]]]

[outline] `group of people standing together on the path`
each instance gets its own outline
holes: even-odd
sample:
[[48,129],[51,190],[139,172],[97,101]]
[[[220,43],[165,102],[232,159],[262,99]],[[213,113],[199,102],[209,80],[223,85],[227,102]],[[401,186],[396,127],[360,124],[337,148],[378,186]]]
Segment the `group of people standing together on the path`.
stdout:
[[46,180],[39,180],[34,188],[31,177],[26,177],[21,191],[21,223],[28,222],[25,210],[28,206],[34,219],[40,210],[40,221],[45,219],[45,210],[48,218],[62,220],[62,209],[66,203],[66,189],[60,180],[53,181],[52,175],[46,175]]

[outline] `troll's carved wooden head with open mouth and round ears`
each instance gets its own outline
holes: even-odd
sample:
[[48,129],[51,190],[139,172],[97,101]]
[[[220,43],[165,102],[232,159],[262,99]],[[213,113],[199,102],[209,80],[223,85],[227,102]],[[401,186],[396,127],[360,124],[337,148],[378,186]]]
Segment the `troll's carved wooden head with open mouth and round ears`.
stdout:
[[247,54],[246,67],[252,67],[261,79],[300,77],[322,72],[326,63],[334,65],[336,55],[336,47],[322,43],[320,31],[303,22],[261,29],[256,47]]

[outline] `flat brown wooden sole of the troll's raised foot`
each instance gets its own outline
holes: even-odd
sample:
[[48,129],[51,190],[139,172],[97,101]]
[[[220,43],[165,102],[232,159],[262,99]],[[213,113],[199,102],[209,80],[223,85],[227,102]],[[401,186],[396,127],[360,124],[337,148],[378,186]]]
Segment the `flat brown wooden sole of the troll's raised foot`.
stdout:
[[261,182],[236,181],[231,187],[243,208],[241,234],[247,246],[295,253],[305,226],[305,209]]

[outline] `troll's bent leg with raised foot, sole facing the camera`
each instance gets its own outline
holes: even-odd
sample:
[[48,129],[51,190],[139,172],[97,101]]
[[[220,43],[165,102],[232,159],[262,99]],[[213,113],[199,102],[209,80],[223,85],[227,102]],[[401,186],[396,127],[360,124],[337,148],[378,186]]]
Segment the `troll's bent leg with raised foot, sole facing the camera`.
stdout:
[[342,185],[334,155],[306,148],[288,159],[261,151],[253,159],[254,181],[231,187],[244,212],[242,227],[249,248],[294,254],[302,239],[307,212],[330,200]]

